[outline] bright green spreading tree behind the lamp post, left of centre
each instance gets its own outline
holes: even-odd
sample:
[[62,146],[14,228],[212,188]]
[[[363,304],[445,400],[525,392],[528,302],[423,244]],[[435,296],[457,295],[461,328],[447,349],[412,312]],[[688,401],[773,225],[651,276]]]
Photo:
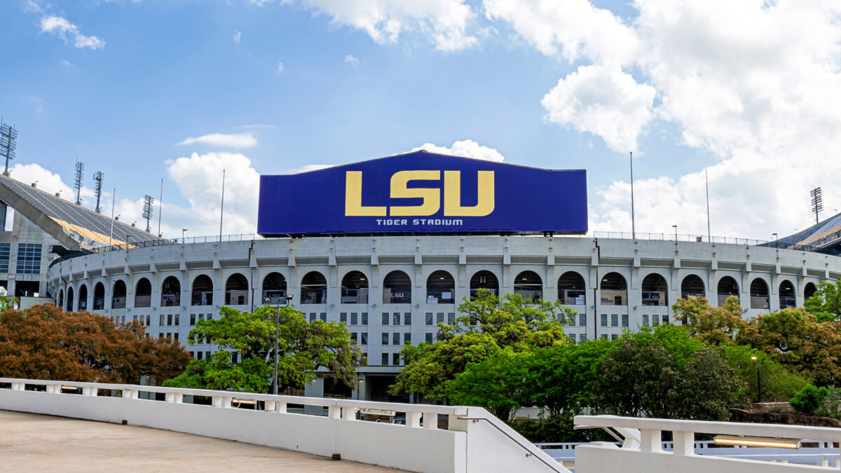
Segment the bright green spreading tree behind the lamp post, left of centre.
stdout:
[[[188,369],[165,385],[268,392],[274,370],[275,311],[262,306],[253,312],[220,308],[220,317],[198,321],[188,343],[207,341],[225,352],[211,359],[193,360]],[[339,322],[308,323],[293,307],[279,311],[278,389],[303,388],[327,375],[353,385],[362,350],[350,342],[350,332]],[[231,363],[231,353],[241,363]],[[320,370],[323,368],[323,370]]]

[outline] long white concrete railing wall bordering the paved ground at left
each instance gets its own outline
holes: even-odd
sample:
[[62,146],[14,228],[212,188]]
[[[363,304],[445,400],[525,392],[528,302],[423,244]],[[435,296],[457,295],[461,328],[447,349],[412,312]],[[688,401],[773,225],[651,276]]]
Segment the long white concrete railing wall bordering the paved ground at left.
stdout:
[[[12,378],[0,378],[0,385],[11,388],[0,389],[0,409],[8,411],[162,428],[410,471],[569,471],[480,407]],[[190,402],[196,396],[211,404]],[[243,401],[254,409],[237,408]],[[357,412],[405,412],[405,425],[365,422]],[[438,428],[439,415],[447,416],[447,428]]]

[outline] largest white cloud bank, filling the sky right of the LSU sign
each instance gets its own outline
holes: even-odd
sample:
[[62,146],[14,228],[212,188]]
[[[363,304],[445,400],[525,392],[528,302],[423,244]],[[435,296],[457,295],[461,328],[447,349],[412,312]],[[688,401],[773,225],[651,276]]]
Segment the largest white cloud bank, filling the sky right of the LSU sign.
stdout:
[[[584,0],[484,5],[537,50],[584,65],[543,99],[548,120],[617,151],[631,149],[646,123],[670,123],[680,144],[719,157],[709,167],[713,235],[802,230],[817,185],[829,208],[841,204],[832,185],[841,180],[832,164],[841,153],[841,3],[637,0],[628,23]],[[586,82],[582,70],[601,73]],[[604,109],[585,113],[593,103]],[[703,184],[702,170],[637,181],[637,230],[705,235]],[[591,227],[630,231],[627,182],[595,193],[603,203]]]

